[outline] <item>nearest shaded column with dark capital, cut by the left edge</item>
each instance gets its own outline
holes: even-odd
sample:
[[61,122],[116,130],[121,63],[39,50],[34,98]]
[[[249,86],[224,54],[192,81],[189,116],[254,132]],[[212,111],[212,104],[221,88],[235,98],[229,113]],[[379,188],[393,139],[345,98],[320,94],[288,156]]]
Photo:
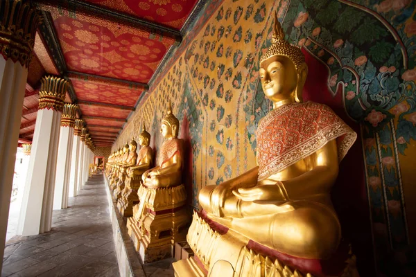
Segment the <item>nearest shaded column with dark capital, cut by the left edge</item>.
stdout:
[[[0,257],[3,257],[21,108],[40,12],[28,0],[2,0],[0,10],[3,16],[0,48],[7,50],[0,55]],[[21,47],[16,48],[17,45]],[[2,265],[0,260],[0,271]]]

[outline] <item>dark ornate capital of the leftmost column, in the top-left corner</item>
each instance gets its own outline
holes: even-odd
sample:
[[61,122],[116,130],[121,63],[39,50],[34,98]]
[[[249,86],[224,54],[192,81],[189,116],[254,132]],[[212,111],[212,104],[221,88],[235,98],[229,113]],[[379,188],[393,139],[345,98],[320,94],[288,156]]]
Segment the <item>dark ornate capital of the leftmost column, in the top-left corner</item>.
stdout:
[[0,18],[1,55],[28,68],[36,29],[42,21],[40,10],[30,0],[1,0]]

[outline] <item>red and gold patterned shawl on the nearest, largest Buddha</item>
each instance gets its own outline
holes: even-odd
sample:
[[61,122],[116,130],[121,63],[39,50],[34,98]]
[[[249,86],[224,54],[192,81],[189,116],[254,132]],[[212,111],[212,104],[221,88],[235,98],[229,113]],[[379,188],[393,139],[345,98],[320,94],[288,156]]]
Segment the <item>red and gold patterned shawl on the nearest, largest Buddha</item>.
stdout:
[[257,129],[259,181],[308,157],[333,139],[341,161],[356,137],[327,105],[309,101],[272,110]]

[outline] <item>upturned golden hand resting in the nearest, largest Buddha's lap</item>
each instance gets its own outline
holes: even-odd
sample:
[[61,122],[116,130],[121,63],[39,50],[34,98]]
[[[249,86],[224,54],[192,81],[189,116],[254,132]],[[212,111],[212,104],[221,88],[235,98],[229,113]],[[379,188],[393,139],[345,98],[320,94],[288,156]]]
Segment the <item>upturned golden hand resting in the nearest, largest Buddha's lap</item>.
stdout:
[[253,188],[239,188],[233,190],[232,193],[239,197],[243,201],[256,201],[256,200],[286,200],[283,193],[281,192],[281,186],[283,183],[280,181],[276,185],[259,185]]

